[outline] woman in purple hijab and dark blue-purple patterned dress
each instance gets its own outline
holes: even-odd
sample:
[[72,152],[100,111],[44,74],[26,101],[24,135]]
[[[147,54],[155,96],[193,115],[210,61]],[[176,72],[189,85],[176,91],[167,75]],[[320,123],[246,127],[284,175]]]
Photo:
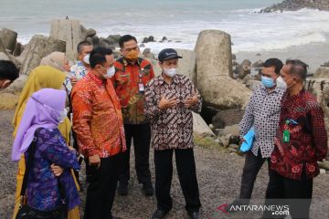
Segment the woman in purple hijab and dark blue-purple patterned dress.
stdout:
[[[80,204],[80,198],[69,169],[79,170],[75,151],[70,151],[58,124],[65,116],[66,92],[58,89],[40,89],[27,101],[27,108],[16,133],[12,160],[28,156],[28,147],[37,130],[36,151],[27,181],[27,204],[41,211],[52,211],[61,203],[60,183],[65,191],[68,210]],[[51,165],[64,169],[56,177]]]

